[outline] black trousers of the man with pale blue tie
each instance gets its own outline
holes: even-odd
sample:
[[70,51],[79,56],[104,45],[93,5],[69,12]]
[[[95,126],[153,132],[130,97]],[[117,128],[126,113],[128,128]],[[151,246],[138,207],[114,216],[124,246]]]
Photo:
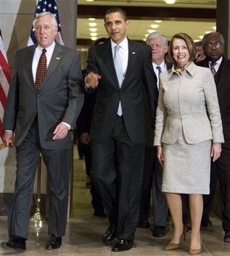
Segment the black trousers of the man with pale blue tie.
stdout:
[[91,140],[92,179],[118,239],[133,240],[138,226],[144,143],[129,139],[122,116],[116,116],[106,142]]

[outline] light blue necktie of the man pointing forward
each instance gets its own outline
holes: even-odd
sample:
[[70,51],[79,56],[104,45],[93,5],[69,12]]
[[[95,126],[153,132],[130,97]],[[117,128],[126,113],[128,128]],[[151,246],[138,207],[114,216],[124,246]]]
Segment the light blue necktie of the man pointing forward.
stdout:
[[[116,45],[114,47],[114,57],[113,57],[113,62],[115,65],[115,70],[117,73],[117,77],[118,77],[118,83],[119,86],[121,88],[122,82],[123,82],[123,70],[122,70],[122,59],[121,59],[121,55],[119,53],[119,49],[121,49],[120,45]],[[118,116],[122,115],[122,110],[121,110],[121,101],[119,102],[118,105],[118,112],[117,112]]]

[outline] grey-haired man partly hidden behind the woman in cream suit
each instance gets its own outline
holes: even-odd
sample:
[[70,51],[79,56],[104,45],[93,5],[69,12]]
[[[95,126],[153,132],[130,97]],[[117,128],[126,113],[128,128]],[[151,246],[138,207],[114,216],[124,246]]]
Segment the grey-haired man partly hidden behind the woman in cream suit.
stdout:
[[[170,68],[169,63],[165,61],[165,55],[168,52],[168,40],[166,39],[166,36],[154,32],[147,36],[146,44],[150,45],[152,48],[152,67],[158,78],[159,88],[160,73]],[[166,222],[169,207],[166,203],[166,196],[161,191],[163,170],[157,159],[157,148],[153,146],[154,129],[149,125],[149,122],[147,122],[146,128],[148,137],[145,149],[138,227],[142,229],[149,228],[148,218],[152,191],[154,217],[152,235],[154,237],[163,237],[166,234]]]

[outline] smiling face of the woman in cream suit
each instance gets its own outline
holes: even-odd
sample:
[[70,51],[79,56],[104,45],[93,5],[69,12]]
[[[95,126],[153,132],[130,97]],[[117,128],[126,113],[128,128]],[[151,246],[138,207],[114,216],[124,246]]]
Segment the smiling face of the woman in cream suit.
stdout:
[[189,49],[183,39],[175,38],[172,42],[172,57],[177,66],[183,68],[189,62]]

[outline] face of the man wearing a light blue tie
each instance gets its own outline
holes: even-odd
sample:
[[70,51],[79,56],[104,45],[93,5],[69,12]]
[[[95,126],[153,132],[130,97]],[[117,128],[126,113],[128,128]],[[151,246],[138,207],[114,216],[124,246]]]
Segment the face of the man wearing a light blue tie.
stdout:
[[125,20],[121,13],[108,13],[105,18],[104,27],[112,41],[120,44],[126,37],[129,21]]

